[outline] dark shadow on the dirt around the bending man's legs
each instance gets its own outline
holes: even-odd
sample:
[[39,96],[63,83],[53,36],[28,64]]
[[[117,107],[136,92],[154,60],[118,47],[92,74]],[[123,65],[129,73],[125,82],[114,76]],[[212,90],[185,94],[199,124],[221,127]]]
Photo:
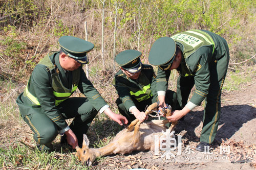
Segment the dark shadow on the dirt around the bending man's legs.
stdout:
[[[201,107],[203,109],[203,107]],[[185,130],[186,133],[184,137],[188,138],[190,141],[198,142],[203,120],[203,110],[192,111],[185,116],[183,121],[180,121],[175,128],[175,133],[180,133]],[[216,140],[214,142],[221,142],[222,139],[236,138],[237,140],[246,140],[251,138],[256,138],[254,134],[255,127],[250,127],[255,125],[250,123],[246,125],[244,131],[241,131],[242,127],[254,121],[256,123],[256,108],[250,105],[227,105],[221,108],[221,117],[218,127],[218,132],[216,135]],[[239,134],[236,134],[239,131]],[[233,137],[232,137],[233,136]],[[255,141],[255,139],[254,139]],[[250,141],[248,144],[251,144]]]

